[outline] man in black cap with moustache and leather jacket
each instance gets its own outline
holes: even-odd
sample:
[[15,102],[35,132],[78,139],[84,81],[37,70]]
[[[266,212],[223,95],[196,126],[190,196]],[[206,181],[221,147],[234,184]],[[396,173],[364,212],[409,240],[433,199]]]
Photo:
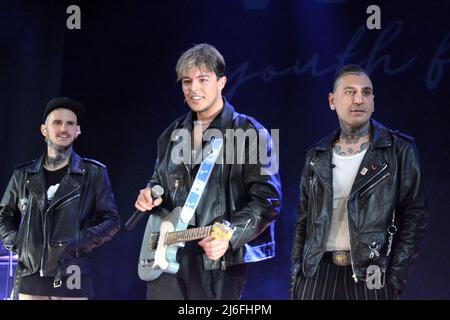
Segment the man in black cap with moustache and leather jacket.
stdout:
[[91,297],[88,253],[120,227],[105,166],[73,151],[84,110],[66,97],[47,104],[47,150],[14,170],[0,203],[3,244],[18,254],[14,296],[21,300]]

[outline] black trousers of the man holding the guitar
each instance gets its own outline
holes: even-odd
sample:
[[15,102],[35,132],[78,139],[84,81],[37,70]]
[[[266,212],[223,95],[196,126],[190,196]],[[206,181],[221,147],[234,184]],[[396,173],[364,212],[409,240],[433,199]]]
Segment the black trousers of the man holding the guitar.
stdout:
[[226,270],[205,270],[197,242],[179,249],[177,274],[163,273],[148,282],[148,300],[238,300],[244,290],[247,266],[240,264]]

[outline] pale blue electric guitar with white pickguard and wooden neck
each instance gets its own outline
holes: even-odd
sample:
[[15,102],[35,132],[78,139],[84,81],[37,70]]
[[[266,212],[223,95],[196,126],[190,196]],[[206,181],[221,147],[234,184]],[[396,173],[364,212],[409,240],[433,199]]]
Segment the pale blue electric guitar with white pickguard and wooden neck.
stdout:
[[175,231],[182,207],[157,210],[147,222],[139,255],[138,274],[144,281],[158,278],[163,272],[175,274],[180,268],[177,251],[185,242],[213,236],[230,240],[235,228],[228,221],[216,222],[212,226]]

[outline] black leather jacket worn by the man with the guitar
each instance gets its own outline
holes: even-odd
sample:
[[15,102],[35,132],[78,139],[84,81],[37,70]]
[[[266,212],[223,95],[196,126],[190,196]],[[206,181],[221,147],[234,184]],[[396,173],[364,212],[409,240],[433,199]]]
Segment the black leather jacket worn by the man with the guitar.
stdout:
[[[174,145],[177,145],[179,143],[177,140],[180,139],[174,130],[187,129],[185,132],[190,133],[192,122],[193,113],[189,112],[173,122],[158,139],[158,159],[149,185],[163,186],[165,193],[161,207],[169,212],[177,206],[184,205],[200,166],[196,164],[191,169],[190,164],[184,162],[176,164],[171,160]],[[211,129],[220,130],[222,135],[225,135],[227,129],[256,129],[267,133],[253,118],[235,112],[226,100],[223,110],[214,118],[206,132]],[[222,159],[226,159],[228,151],[226,140],[228,141],[230,137],[229,133],[225,135]],[[188,143],[190,147],[190,141]],[[203,149],[208,145],[209,141],[205,142]],[[240,145],[239,148],[243,146]],[[237,149],[235,147],[234,151]],[[270,145],[267,149],[270,150]],[[197,227],[211,225],[213,221],[223,218],[237,228],[230,240],[232,249],[228,250],[221,260],[209,260],[205,254],[203,255],[206,270],[275,256],[273,222],[281,209],[281,183],[278,173],[262,175],[261,171],[265,170],[266,166],[259,161],[256,164],[249,164],[248,157],[252,152],[256,155],[257,146],[250,146],[249,150],[247,144],[245,152],[241,153],[247,159],[245,164],[216,163],[197,207],[195,214]],[[272,152],[275,154],[275,150]],[[161,209],[158,208],[153,210]]]

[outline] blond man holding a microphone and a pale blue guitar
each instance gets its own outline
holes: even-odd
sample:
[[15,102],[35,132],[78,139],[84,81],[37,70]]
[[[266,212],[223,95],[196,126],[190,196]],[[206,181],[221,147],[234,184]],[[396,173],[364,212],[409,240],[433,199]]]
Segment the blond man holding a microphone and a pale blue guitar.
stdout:
[[[246,264],[275,256],[279,175],[248,161],[261,143],[272,158],[275,150],[267,130],[222,97],[225,62],[214,47],[187,50],[176,71],[190,112],[158,139],[154,174],[136,200],[150,213],[139,275],[148,299],[240,299]],[[238,129],[264,134],[236,142]],[[155,186],[162,196],[152,197]]]

